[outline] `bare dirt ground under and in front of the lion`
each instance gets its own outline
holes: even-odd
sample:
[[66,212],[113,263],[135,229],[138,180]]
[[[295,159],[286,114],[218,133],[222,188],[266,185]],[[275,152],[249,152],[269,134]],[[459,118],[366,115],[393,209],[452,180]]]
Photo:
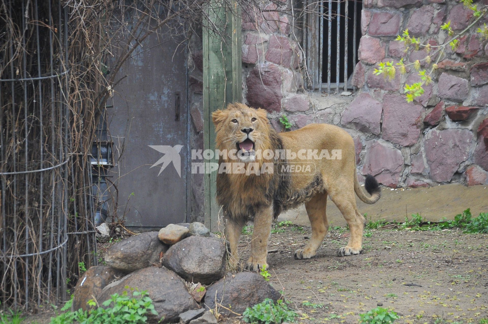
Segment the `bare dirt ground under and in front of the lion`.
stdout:
[[[478,323],[488,316],[487,234],[369,230],[363,254],[337,257],[347,243],[343,230],[329,231],[310,260],[293,258],[309,227],[271,235],[269,250],[277,251],[268,254],[270,282],[303,313],[299,322],[357,323],[377,305],[396,311],[395,323]],[[241,238],[244,260],[250,240]]]

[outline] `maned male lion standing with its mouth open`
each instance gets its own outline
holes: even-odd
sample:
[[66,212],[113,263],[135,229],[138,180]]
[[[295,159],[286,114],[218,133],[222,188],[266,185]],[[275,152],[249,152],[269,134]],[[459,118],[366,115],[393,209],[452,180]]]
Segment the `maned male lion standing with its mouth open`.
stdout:
[[[337,255],[362,253],[366,220],[356,207],[354,194],[371,204],[380,199],[381,189],[375,178],[367,175],[365,189],[370,197],[362,190],[356,174],[354,142],[345,130],[321,123],[278,133],[271,127],[264,109],[242,103],[231,103],[226,109],[214,111],[212,120],[216,149],[238,151],[239,157],[236,161],[236,155],[221,154],[217,174],[216,200],[222,205],[232,267],[238,265],[237,244],[248,221],[254,222],[254,230],[251,255],[244,268],[259,271],[267,267],[272,222],[281,212],[301,203],[305,203],[312,235],[304,248],[295,251],[294,257],[315,257],[328,230],[327,195],[349,225],[349,241],[339,248]],[[260,152],[279,154],[258,154]],[[221,172],[231,169],[221,170],[221,166],[231,165],[229,163],[240,163],[240,171]],[[260,172],[264,166],[268,172]],[[232,171],[237,169],[232,167]]]

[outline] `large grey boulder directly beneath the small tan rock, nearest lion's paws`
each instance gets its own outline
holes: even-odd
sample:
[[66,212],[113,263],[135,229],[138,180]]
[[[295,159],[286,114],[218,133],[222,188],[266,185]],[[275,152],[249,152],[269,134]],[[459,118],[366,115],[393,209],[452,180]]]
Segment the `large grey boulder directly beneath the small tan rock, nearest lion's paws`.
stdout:
[[164,266],[184,280],[202,284],[222,278],[226,261],[224,243],[202,236],[190,236],[172,245],[163,258]]

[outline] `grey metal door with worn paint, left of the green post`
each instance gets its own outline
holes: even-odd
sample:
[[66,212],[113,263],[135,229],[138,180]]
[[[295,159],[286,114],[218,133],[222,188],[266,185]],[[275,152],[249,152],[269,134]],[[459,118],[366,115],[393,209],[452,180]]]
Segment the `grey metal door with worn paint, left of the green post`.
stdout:
[[185,46],[161,35],[142,45],[120,71],[127,77],[107,109],[117,163],[112,181],[125,226],[162,227],[186,221]]

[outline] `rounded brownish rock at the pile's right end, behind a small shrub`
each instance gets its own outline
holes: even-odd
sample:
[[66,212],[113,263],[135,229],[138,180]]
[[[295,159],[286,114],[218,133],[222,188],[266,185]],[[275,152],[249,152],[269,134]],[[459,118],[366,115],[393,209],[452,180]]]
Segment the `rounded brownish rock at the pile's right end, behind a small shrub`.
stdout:
[[[205,305],[213,309],[217,300],[218,303],[232,311],[242,314],[247,307],[259,304],[266,298],[276,302],[281,298],[281,294],[261,275],[253,272],[239,272],[235,275],[227,274],[209,286],[205,295]],[[222,307],[220,311],[225,315],[235,315]]]

